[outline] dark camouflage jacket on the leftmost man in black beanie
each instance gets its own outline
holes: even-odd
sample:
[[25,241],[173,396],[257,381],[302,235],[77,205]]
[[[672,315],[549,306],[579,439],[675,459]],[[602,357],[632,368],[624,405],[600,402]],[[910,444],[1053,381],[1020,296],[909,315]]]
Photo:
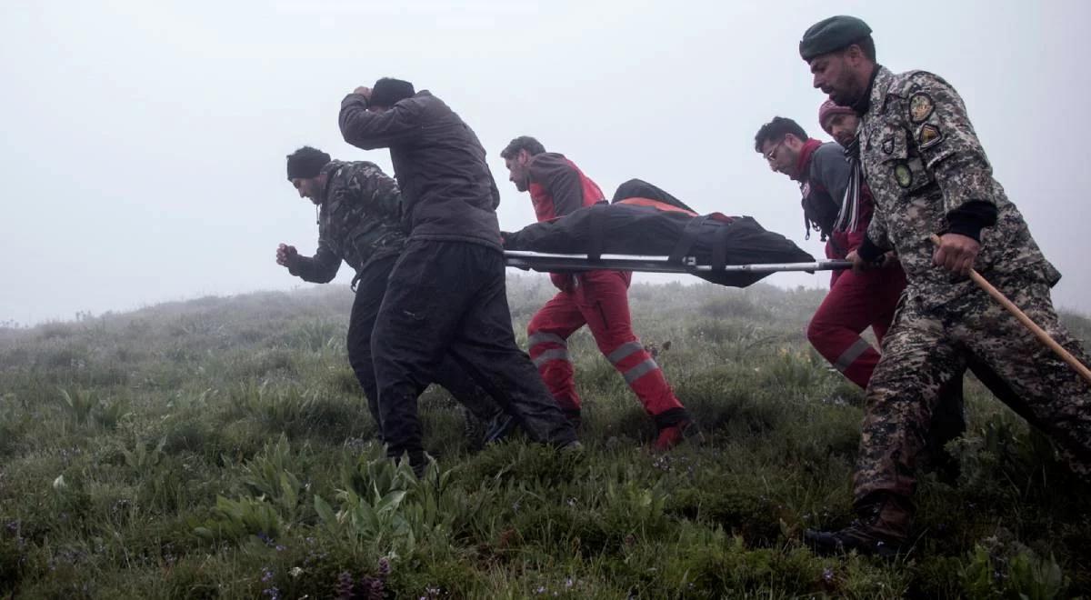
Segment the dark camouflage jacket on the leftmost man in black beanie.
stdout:
[[288,265],[292,275],[316,284],[332,280],[343,260],[360,273],[371,261],[399,254],[406,241],[401,194],[379,166],[332,160],[322,168],[321,175],[326,173],[319,250]]

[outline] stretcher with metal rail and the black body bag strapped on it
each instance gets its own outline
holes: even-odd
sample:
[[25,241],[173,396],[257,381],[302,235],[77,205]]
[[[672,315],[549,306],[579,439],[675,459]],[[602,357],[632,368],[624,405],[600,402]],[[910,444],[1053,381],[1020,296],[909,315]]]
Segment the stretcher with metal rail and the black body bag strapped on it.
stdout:
[[698,215],[639,180],[624,183],[612,204],[504,233],[508,266],[688,273],[714,284],[746,287],[781,271],[834,271],[847,261],[816,261],[751,217]]

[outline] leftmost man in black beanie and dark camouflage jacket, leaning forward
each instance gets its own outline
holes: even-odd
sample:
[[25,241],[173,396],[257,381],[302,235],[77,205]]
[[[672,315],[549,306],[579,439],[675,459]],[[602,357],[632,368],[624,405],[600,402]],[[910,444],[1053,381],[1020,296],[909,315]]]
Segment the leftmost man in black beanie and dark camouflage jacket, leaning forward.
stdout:
[[[308,146],[288,156],[288,180],[300,197],[319,207],[319,248],[313,256],[301,256],[295,247],[281,243],[276,262],[292,275],[315,284],[333,280],[341,261],[356,271],[348,360],[382,439],[371,332],[386,280],[406,242],[397,182],[373,163],[331,160],[328,154]],[[511,425],[511,417],[449,357],[441,362],[434,379],[473,417],[489,423],[487,439],[502,435]]]

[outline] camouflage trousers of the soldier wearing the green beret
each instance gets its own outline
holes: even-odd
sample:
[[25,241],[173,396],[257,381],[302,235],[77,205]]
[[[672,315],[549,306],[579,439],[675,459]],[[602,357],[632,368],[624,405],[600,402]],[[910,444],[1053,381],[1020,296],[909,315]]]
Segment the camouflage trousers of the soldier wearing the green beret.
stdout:
[[[992,283],[1088,363],[1082,345],[1057,321],[1048,284],[1033,276]],[[867,386],[853,476],[858,507],[882,497],[908,501],[939,389],[968,365],[1012,410],[1050,435],[1075,471],[1083,477],[1091,472],[1091,386],[1076,371],[984,291],[974,290],[932,310],[903,299]],[[902,518],[909,517],[906,508]]]

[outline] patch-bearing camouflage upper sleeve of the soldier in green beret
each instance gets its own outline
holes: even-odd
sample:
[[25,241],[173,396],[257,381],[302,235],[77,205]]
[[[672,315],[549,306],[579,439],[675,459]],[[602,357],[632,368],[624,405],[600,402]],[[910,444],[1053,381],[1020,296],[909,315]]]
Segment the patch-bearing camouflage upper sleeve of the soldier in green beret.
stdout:
[[943,191],[944,213],[970,202],[995,205],[993,168],[958,92],[943,79],[919,72],[910,80],[906,107],[909,144]]

